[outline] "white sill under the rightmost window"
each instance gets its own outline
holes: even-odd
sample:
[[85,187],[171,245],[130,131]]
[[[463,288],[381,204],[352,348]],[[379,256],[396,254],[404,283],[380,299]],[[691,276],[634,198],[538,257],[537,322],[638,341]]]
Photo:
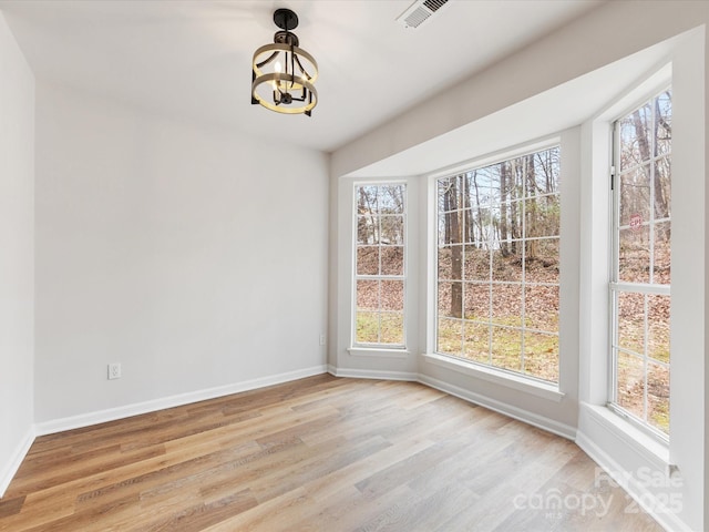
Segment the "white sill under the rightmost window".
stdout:
[[638,454],[645,457],[645,459],[657,467],[658,470],[668,470],[670,461],[669,446],[667,443],[646,434],[637,427],[634,427],[633,423],[629,423],[619,415],[612,411],[608,407],[582,403],[582,408],[586,410],[590,419],[606,430],[617,434],[626,447],[634,449]]

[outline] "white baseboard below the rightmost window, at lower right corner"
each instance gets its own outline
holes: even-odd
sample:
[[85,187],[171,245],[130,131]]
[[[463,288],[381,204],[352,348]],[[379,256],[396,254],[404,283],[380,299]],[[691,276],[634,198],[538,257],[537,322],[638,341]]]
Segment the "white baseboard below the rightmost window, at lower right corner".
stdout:
[[692,532],[677,514],[662,511],[661,509],[665,509],[662,501],[659,501],[657,497],[655,497],[647,487],[638,482],[634,475],[614,474],[618,471],[624,471],[624,468],[580,430],[576,432],[576,444],[588,454],[600,469],[608,473],[608,475],[633,498],[638,507],[646,511],[660,526],[672,532]]

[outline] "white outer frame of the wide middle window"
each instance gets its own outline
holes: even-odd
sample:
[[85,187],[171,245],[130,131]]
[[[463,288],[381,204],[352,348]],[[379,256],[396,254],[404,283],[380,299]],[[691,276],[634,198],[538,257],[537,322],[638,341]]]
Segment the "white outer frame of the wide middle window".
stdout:
[[[439,206],[438,206],[438,182],[441,178],[445,177],[455,177],[461,174],[465,174],[466,172],[472,172],[474,170],[484,168],[490,165],[494,165],[501,162],[512,161],[525,155],[536,154],[540,152],[544,152],[551,149],[558,149],[558,164],[559,164],[559,181],[562,180],[562,160],[563,157],[563,142],[561,134],[551,135],[548,137],[544,137],[536,141],[525,142],[517,146],[508,147],[503,151],[499,151],[495,153],[489,153],[484,156],[464,162],[462,164],[451,166],[449,168],[441,170],[439,172],[432,173],[429,175],[429,196],[430,196],[430,212],[431,216],[429,218],[429,243],[430,243],[430,255],[429,255],[429,270],[431,275],[429,276],[430,285],[429,285],[429,318],[428,318],[428,330],[429,330],[429,348],[428,355],[425,356],[427,360],[431,364],[448,367],[451,369],[455,369],[458,371],[462,371],[465,374],[474,375],[479,378],[493,381],[496,383],[502,383],[512,388],[516,388],[523,391],[532,392],[533,395],[538,395],[540,397],[545,397],[547,399],[561,400],[564,397],[564,393],[561,392],[561,381],[562,381],[562,324],[561,324],[561,306],[562,306],[562,277],[559,275],[558,282],[555,286],[558,289],[558,301],[557,305],[559,307],[559,323],[557,325],[557,332],[554,335],[557,337],[557,380],[549,381],[536,377],[534,375],[524,374],[521,371],[510,370],[497,366],[492,366],[490,364],[477,362],[474,360],[470,360],[463,357],[458,357],[452,354],[439,352],[438,344],[439,344],[439,270],[438,270],[438,250],[439,250]],[[556,192],[559,204],[559,209],[562,207],[562,190],[563,185],[559,184],[559,188]],[[536,196],[535,196],[536,197]],[[528,200],[527,196],[520,198],[520,202],[525,202]],[[562,248],[562,235],[564,229],[562,227],[562,217],[559,213],[559,232],[556,235],[555,239],[559,245],[559,262],[561,262],[561,248]],[[538,238],[532,238],[538,239]],[[524,243],[526,238],[520,239],[518,242]],[[561,265],[561,263],[559,263]],[[492,280],[491,285],[492,286]],[[524,283],[521,284],[522,289],[526,286]],[[520,330],[524,332],[525,327],[524,323],[521,324]],[[531,329],[533,330],[533,329]],[[536,330],[536,329],[534,329]],[[522,357],[523,355],[521,355]]]

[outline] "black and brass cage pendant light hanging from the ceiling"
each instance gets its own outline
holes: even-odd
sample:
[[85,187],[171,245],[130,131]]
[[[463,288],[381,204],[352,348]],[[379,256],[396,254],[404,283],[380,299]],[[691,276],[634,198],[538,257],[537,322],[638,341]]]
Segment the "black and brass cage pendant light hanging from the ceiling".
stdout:
[[291,33],[298,27],[298,16],[289,9],[277,9],[274,22],[281,31],[274,43],[254,52],[251,62],[251,103],[285,114],[310,116],[318,103],[314,83],[318,78],[318,63],[298,48],[298,37]]

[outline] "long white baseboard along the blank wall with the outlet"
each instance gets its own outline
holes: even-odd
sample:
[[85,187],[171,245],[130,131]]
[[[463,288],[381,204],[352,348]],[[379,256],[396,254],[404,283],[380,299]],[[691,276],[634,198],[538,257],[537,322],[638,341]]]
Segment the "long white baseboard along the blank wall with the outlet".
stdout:
[[166,408],[181,407],[183,405],[189,405],[192,402],[229,396],[232,393],[238,393],[240,391],[248,391],[257,388],[264,388],[266,386],[280,385],[282,382],[288,382],[291,380],[325,374],[327,371],[328,367],[325,365],[314,366],[311,368],[299,369],[296,371],[289,371],[279,375],[271,375],[268,377],[246,380],[243,382],[235,382],[216,388],[208,388],[206,390],[191,391],[187,393],[179,393],[177,396],[154,399],[151,401],[126,405],[125,407],[111,408],[107,410],[82,413],[69,418],[43,421],[34,426],[34,432],[37,436],[52,434],[64,430],[79,429],[92,424],[104,423],[106,421],[129,418],[131,416],[138,416],[141,413],[155,412],[157,410],[164,410]]

